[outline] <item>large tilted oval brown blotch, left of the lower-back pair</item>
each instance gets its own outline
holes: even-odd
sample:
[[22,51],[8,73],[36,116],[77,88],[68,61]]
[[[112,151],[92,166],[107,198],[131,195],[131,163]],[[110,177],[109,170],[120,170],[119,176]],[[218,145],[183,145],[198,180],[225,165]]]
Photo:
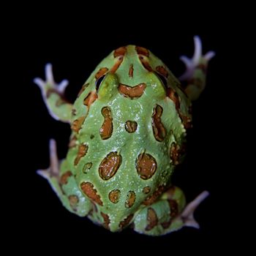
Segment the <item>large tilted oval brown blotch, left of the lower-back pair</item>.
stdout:
[[112,178],[121,165],[121,155],[117,152],[110,152],[99,165],[99,176],[104,181]]

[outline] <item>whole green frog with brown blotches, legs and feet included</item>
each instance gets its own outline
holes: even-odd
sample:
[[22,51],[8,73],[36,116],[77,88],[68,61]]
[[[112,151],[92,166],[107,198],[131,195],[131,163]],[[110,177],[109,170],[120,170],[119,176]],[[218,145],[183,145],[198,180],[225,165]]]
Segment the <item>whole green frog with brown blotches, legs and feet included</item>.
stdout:
[[35,78],[50,116],[70,124],[67,157],[49,143],[45,178],[67,210],[111,232],[132,227],[162,236],[182,227],[199,228],[194,211],[209,192],[187,203],[171,176],[184,160],[192,101],[206,86],[208,61],[195,36],[191,59],[178,79],[150,50],[127,45],[113,50],[91,73],[72,104],[68,80],[56,83],[52,65]]

